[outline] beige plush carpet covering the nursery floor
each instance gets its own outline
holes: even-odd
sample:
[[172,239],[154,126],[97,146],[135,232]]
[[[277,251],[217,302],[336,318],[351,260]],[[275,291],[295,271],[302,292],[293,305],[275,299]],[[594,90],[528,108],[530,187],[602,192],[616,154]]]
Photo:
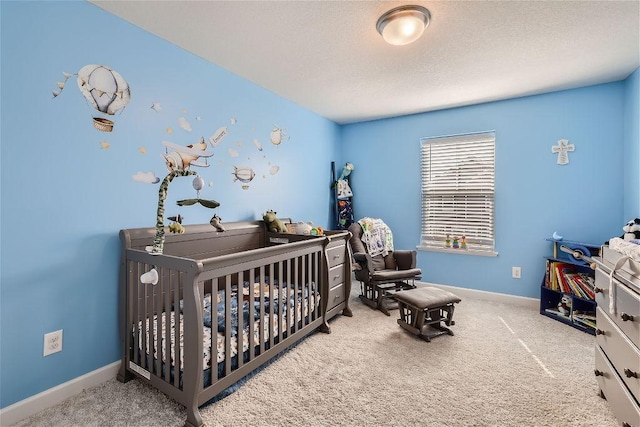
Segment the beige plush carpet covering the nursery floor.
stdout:
[[[336,317],[240,389],[200,408],[208,426],[615,426],[595,338],[520,305],[464,297],[455,336],[416,339],[364,306]],[[115,379],[18,426],[181,426],[184,408]]]

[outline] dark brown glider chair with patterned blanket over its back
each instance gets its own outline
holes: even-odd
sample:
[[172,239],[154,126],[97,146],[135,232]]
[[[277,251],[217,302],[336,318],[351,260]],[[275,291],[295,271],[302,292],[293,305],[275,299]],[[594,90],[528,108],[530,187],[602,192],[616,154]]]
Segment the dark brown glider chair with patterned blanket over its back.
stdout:
[[[380,233],[375,233],[375,230],[371,233],[371,230],[368,230],[369,233],[365,236],[365,231],[360,225],[361,221],[349,226],[351,232],[349,244],[355,261],[354,275],[361,285],[360,299],[369,307],[389,316],[390,309],[398,308],[394,295],[403,290],[414,289],[416,287],[414,282],[420,280],[422,271],[416,268],[416,251],[394,251],[392,243],[389,248],[391,250],[372,256],[371,252],[374,251],[369,250],[372,247],[371,235],[380,236]],[[381,220],[376,221],[388,230]],[[367,227],[371,227],[371,224],[369,222]],[[388,233],[389,239],[392,239],[391,230],[388,230]],[[373,244],[373,246],[376,245]]]

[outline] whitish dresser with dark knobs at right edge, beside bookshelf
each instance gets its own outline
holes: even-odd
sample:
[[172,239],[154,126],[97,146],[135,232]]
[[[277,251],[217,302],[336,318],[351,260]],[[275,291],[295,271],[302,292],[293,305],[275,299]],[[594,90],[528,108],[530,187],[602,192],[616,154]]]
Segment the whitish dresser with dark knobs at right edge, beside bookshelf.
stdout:
[[[640,427],[640,263],[603,246],[596,261],[595,375],[621,426]],[[613,274],[611,274],[613,271]],[[613,298],[610,298],[613,287]],[[613,301],[613,303],[611,303]]]

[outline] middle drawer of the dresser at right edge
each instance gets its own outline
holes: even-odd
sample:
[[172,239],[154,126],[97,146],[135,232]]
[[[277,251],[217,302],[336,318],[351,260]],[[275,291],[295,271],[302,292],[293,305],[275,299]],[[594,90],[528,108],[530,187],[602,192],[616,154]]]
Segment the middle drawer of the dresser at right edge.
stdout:
[[640,350],[623,334],[602,308],[596,309],[596,341],[615,366],[622,381],[640,400]]

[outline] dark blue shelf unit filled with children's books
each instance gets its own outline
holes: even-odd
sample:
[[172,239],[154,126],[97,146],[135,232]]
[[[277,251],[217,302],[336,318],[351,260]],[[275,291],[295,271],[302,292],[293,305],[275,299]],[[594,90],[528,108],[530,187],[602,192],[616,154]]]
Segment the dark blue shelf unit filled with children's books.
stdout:
[[595,272],[591,257],[600,245],[546,239],[552,255],[545,257],[540,286],[540,314],[595,335]]

